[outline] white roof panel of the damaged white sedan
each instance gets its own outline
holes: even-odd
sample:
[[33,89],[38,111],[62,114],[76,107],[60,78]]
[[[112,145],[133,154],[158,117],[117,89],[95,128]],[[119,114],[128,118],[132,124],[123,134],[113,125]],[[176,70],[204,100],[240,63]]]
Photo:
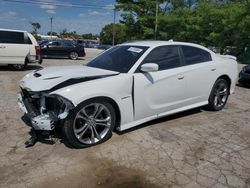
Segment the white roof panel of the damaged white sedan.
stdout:
[[199,44],[189,43],[189,42],[177,42],[177,41],[160,41],[160,40],[145,40],[145,41],[133,41],[133,42],[126,42],[121,45],[131,45],[131,46],[147,46],[147,47],[157,47],[157,46],[164,46],[164,45],[187,45],[187,46],[194,46],[197,48],[202,48],[207,51],[211,51],[204,46]]

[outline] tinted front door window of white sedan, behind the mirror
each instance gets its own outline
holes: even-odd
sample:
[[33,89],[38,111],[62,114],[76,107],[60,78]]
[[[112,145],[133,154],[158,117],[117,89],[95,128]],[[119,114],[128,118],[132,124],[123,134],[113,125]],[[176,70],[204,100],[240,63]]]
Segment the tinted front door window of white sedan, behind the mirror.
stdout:
[[161,46],[153,49],[143,61],[145,63],[156,63],[159,70],[180,67],[180,55],[178,46]]

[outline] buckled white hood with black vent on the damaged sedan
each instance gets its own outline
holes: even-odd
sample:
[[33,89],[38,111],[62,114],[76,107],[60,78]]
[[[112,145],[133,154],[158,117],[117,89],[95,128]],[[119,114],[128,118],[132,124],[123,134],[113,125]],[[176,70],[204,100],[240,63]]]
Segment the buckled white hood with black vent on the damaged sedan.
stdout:
[[20,80],[20,86],[21,88],[31,91],[45,91],[72,79],[91,79],[116,74],[119,74],[119,72],[83,65],[47,67],[27,74],[22,80]]

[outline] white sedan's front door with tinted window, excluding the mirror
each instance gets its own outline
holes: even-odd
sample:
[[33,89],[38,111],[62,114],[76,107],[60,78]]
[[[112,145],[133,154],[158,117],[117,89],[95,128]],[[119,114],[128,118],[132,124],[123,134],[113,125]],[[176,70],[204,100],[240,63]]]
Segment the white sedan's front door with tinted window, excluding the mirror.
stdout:
[[143,73],[140,66],[134,74],[135,120],[184,106],[185,75],[178,46],[153,49],[142,64],[156,63],[159,71]]

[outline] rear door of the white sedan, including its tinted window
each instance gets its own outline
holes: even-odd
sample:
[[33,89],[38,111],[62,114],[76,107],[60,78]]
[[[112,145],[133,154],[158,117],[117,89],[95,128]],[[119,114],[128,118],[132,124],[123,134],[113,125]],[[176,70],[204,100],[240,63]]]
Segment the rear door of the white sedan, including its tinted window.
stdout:
[[187,101],[190,105],[207,101],[216,77],[211,54],[194,46],[182,45],[181,49],[185,62]]

